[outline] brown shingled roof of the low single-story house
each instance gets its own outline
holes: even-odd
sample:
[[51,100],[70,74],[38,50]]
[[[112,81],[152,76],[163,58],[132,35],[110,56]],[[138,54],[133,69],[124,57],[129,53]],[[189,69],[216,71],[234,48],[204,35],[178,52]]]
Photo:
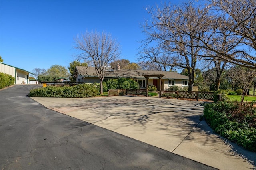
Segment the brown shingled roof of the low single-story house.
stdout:
[[[76,66],[76,71],[83,77],[98,77],[94,67]],[[164,75],[162,79],[185,79],[188,80],[188,76],[178,74],[170,71],[152,71],[152,70],[117,70],[107,67],[105,72],[105,78],[134,78],[145,79],[144,75]],[[152,79],[158,79],[158,77],[150,77]]]

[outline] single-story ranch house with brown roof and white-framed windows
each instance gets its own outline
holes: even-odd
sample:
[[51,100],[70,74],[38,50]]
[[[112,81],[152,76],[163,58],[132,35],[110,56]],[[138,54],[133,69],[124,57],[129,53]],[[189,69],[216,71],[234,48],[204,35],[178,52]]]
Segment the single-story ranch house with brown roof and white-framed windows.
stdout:
[[[74,77],[76,78],[77,82],[100,82],[94,67],[76,66],[75,73],[76,74],[74,75]],[[148,85],[154,85],[157,87],[158,90],[166,90],[170,86],[188,87],[188,76],[181,75],[176,72],[126,70],[120,69],[120,67],[117,67],[117,69],[106,67],[104,80],[115,78],[134,79],[134,81],[137,81],[139,83],[140,89],[146,88],[147,81]]]

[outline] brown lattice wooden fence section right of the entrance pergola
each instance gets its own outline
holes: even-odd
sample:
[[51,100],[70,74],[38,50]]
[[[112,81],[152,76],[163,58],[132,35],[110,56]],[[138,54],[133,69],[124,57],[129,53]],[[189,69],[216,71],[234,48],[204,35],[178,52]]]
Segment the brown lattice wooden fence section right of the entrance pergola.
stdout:
[[214,92],[202,91],[161,91],[161,97],[213,100]]

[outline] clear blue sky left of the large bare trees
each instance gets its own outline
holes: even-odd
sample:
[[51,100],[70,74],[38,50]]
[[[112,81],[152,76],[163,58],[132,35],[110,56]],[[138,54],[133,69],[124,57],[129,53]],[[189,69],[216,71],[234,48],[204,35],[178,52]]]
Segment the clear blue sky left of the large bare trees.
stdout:
[[4,63],[32,71],[68,67],[78,51],[74,36],[108,32],[120,42],[121,59],[136,62],[146,7],[160,0],[0,0],[0,55]]

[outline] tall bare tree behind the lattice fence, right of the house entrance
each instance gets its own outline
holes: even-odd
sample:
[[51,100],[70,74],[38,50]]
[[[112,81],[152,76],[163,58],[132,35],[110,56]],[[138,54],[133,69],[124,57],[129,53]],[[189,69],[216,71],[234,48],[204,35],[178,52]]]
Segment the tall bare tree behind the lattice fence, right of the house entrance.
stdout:
[[[202,10],[189,2],[175,7],[164,4],[156,10],[150,9],[152,20],[144,24],[144,32],[147,35],[144,40],[144,47],[138,59],[165,64],[171,67],[178,66],[188,70],[188,90],[192,91],[194,84],[194,71],[198,56],[201,56],[201,42],[189,34],[204,33],[205,26],[201,23],[206,19],[208,9]],[[182,28],[182,29],[181,29]],[[184,34],[189,32],[189,34]],[[149,51],[150,44],[157,44]],[[150,54],[151,53],[151,54]],[[159,55],[159,54],[162,55]],[[164,62],[161,60],[167,57]]]

